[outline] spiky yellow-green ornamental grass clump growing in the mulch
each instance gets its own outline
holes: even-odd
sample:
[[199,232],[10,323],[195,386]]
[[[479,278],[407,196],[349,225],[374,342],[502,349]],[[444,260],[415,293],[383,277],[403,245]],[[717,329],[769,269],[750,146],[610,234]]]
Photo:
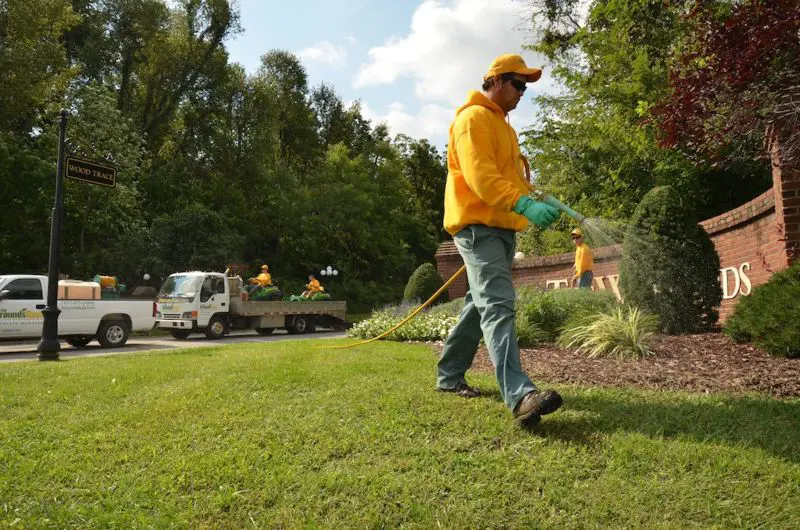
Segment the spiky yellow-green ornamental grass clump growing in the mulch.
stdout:
[[658,317],[636,308],[617,307],[609,313],[585,316],[569,325],[558,339],[559,345],[589,357],[638,359],[652,355],[649,342],[658,329]]

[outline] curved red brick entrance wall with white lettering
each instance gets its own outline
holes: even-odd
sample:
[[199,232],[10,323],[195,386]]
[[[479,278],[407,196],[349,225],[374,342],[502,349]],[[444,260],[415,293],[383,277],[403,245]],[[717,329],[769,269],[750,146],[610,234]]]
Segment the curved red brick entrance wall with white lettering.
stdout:
[[[779,142],[771,142],[772,189],[755,199],[700,225],[711,236],[720,258],[723,301],[720,318],[725,320],[742,296],[765,283],[772,274],[794,263],[800,255],[800,171],[781,160]],[[620,245],[593,249],[593,289],[611,289],[619,295]],[[574,253],[526,258],[514,264],[514,285],[536,285],[558,289],[569,285],[573,276]],[[443,243],[436,253],[442,278],[447,280],[462,265],[455,245]],[[466,275],[450,287],[450,298],[467,292]]]

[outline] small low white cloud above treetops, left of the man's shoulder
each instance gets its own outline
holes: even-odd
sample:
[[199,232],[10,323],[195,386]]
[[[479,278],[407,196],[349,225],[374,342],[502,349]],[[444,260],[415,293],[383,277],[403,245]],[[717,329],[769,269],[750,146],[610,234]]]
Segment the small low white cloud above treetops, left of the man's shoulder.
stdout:
[[392,135],[402,133],[412,138],[427,138],[437,147],[443,147],[447,142],[447,130],[455,116],[455,108],[429,103],[411,114],[405,105],[393,102],[389,104],[386,113],[380,113],[362,101],[361,114],[373,125],[388,125]]

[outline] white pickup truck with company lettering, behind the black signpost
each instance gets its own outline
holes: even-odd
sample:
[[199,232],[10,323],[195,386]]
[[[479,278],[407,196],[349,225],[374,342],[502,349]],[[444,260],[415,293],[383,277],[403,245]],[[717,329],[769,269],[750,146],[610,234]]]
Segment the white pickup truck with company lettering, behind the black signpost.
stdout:
[[[42,336],[47,305],[47,276],[0,276],[0,339]],[[59,300],[58,336],[82,348],[92,339],[115,348],[128,341],[131,331],[146,331],[155,324],[152,300]]]

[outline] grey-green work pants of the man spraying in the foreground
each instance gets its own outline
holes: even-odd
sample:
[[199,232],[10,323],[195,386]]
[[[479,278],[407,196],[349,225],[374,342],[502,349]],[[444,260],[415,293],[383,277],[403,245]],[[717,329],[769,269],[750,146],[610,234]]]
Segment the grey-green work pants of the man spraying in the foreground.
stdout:
[[444,344],[438,364],[439,388],[464,382],[481,335],[508,408],[512,411],[528,392],[536,390],[519,360],[511,264],[514,232],[484,225],[469,225],[453,237],[467,266],[469,290],[458,323]]

